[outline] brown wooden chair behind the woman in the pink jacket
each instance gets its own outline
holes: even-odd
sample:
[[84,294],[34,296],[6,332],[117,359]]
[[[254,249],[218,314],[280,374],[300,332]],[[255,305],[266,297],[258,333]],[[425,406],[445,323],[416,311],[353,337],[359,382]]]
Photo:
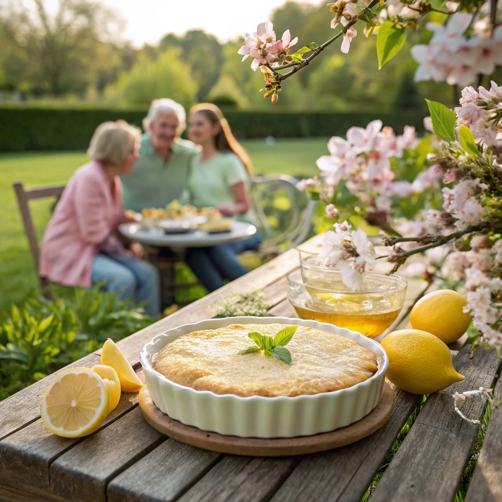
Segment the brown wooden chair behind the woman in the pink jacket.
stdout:
[[58,198],[63,193],[65,185],[31,188],[30,190],[25,190],[23,183],[16,181],[13,183],[13,187],[18,199],[19,210],[21,212],[21,217],[23,218],[23,224],[25,226],[26,236],[28,237],[28,243],[30,244],[30,251],[33,257],[33,261],[35,262],[35,269],[37,270],[40,291],[44,296],[50,297],[50,292],[47,289],[49,282],[45,277],[40,277],[40,274],[38,272],[40,248],[38,245],[37,231],[33,224],[28,201],[33,199],[43,199],[46,197]]

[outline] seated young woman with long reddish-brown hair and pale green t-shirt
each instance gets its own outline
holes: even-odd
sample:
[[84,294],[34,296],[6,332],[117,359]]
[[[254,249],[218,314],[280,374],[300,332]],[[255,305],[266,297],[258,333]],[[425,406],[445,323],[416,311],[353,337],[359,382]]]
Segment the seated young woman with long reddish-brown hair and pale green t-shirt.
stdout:
[[[188,138],[201,151],[191,161],[187,180],[190,203],[197,207],[216,207],[224,216],[248,220],[252,216],[247,195],[251,161],[233,137],[221,110],[211,103],[191,108]],[[248,270],[237,254],[261,244],[258,235],[212,247],[189,249],[187,262],[208,291],[214,291]]]

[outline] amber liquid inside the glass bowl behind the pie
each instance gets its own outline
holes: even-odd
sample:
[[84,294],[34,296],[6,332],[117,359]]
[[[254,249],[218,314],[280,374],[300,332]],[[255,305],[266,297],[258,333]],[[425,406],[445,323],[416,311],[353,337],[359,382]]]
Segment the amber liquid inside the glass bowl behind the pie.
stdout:
[[[306,287],[309,289],[308,286]],[[381,295],[317,293],[309,298],[296,298],[293,307],[301,319],[335,324],[373,338],[382,334],[397,319],[401,308],[398,301]],[[397,298],[396,298],[397,300]],[[395,305],[397,304],[397,305]]]

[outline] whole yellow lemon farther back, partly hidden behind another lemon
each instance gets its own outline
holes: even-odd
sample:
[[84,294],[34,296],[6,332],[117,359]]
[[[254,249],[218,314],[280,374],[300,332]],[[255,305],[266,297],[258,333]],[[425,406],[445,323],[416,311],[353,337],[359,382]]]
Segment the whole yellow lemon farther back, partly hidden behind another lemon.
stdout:
[[462,310],[465,305],[467,300],[456,291],[434,291],[413,306],[411,326],[432,333],[445,343],[452,343],[467,331],[471,322],[471,316]]

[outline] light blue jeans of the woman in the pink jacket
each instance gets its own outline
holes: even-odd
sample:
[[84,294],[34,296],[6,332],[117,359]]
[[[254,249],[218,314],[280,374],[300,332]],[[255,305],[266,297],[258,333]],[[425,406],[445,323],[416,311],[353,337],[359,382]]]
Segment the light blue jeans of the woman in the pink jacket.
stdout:
[[119,299],[146,301],[146,312],[159,315],[160,279],[152,264],[130,256],[99,253],[92,262],[91,281],[104,282],[103,288],[117,293]]

